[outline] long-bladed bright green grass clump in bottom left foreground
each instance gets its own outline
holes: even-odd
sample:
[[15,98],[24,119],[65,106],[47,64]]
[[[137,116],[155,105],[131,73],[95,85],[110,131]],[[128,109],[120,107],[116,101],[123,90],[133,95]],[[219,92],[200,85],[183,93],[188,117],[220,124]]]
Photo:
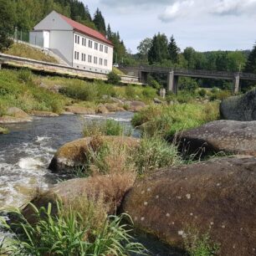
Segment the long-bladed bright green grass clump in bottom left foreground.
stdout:
[[[22,213],[17,211],[19,235],[4,223],[14,235],[12,243],[8,245],[8,252],[12,255],[116,255],[125,256],[131,252],[142,254],[145,248],[141,243],[133,243],[127,225],[121,224],[124,218],[131,218],[127,214],[120,217],[110,216],[105,219],[100,230],[92,230],[90,223],[84,216],[74,211],[72,207],[64,208],[57,203],[57,216],[52,214],[52,204],[48,208],[33,207],[38,218],[34,225],[28,223]],[[91,212],[92,214],[94,212]]]

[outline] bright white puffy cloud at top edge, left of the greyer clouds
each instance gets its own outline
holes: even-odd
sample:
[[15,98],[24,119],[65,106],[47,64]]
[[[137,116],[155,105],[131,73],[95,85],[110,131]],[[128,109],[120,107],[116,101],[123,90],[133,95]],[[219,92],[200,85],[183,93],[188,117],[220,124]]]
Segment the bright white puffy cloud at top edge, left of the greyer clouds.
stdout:
[[194,5],[193,0],[177,1],[168,6],[164,13],[161,13],[158,18],[163,22],[170,22],[176,18],[187,16],[189,9]]

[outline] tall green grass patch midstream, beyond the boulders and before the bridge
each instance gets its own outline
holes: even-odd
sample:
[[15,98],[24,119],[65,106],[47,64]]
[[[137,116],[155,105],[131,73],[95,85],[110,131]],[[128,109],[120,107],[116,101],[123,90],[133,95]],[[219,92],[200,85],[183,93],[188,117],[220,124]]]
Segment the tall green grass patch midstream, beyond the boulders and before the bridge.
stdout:
[[161,136],[174,135],[178,131],[187,130],[218,120],[217,103],[193,103],[175,105],[151,105],[134,115],[132,125],[140,126],[142,131]]

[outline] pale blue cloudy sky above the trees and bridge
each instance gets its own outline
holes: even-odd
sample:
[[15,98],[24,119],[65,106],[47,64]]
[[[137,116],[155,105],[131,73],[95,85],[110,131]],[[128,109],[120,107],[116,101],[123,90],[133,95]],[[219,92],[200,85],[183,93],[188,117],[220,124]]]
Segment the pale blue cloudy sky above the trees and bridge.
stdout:
[[256,41],[256,0],[82,0],[119,31],[135,54],[144,38],[172,34],[181,49],[252,49]]

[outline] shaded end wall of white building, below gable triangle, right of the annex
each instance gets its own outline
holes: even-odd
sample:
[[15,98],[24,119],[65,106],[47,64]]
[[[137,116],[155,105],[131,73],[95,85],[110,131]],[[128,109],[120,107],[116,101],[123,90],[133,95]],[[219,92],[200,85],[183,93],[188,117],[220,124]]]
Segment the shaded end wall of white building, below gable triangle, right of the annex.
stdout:
[[73,31],[52,30],[49,48],[71,66],[73,61]]

